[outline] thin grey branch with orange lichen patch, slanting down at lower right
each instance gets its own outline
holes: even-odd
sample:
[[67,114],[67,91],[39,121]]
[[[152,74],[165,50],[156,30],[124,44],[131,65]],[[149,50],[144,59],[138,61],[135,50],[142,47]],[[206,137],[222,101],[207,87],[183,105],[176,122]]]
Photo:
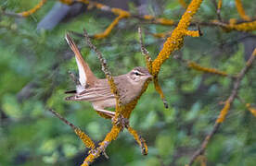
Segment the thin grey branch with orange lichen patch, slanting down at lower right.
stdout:
[[237,75],[237,80],[233,84],[233,89],[231,91],[231,94],[228,97],[228,99],[225,101],[224,108],[221,111],[221,113],[219,114],[218,119],[215,121],[215,124],[213,125],[213,128],[212,128],[210,134],[205,137],[200,148],[198,148],[198,150],[193,154],[193,156],[192,156],[191,160],[189,160],[189,163],[187,164],[187,166],[191,166],[193,164],[193,162],[198,158],[198,156],[202,155],[204,153],[205,148],[207,147],[209,141],[211,140],[211,137],[218,131],[220,125],[224,122],[225,116],[227,115],[228,111],[230,110],[230,107],[232,106],[233,101],[237,97],[237,92],[240,87],[241,80],[243,79],[243,77],[245,77],[245,74],[249,71],[250,66],[252,65],[255,57],[256,57],[256,48],[254,49],[253,53],[251,53],[250,59],[247,61],[245,67]]

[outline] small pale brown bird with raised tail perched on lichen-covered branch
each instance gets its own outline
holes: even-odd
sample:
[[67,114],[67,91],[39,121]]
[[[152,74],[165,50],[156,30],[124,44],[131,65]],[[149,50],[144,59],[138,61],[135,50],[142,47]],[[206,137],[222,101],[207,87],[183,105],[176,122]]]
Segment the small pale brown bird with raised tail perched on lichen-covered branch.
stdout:
[[[105,110],[106,108],[115,108],[116,106],[116,98],[111,92],[108,79],[97,78],[89,65],[83,60],[82,54],[69,34],[66,34],[65,39],[75,55],[79,72],[78,78],[70,74],[72,79],[76,82],[76,89],[66,91],[66,93],[74,93],[72,96],[67,97],[66,101],[89,101],[96,112],[103,113],[107,117],[113,118],[115,112]],[[121,103],[127,104],[133,101],[141,94],[145,83],[152,78],[147,68],[142,66],[134,67],[134,69],[127,74],[113,77]]]

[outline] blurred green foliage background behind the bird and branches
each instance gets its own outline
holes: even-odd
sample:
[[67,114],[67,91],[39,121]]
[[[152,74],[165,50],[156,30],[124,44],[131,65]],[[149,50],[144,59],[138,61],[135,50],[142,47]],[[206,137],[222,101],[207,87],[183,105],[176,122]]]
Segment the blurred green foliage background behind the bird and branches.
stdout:
[[[0,6],[20,12],[37,3],[32,0],[1,0]],[[96,114],[89,102],[64,101],[64,91],[74,88],[68,71],[77,72],[64,35],[69,30],[82,32],[84,28],[89,34],[102,32],[115,16],[96,9],[86,10],[86,6],[82,6],[75,14],[70,10],[52,30],[38,30],[39,22],[56,3],[48,1],[29,18],[0,16],[1,166],[79,165],[83,162],[88,149],[84,148],[70,126],[59,121],[47,108],[53,108],[80,126],[96,142],[101,141],[111,128],[110,121]],[[255,17],[256,4],[250,0],[242,3],[246,13]],[[125,5],[123,8],[129,7],[133,13],[142,11],[176,21],[185,11],[176,0],[109,2],[109,6],[120,4]],[[142,5],[144,9],[139,8]],[[234,1],[224,0],[222,17],[224,20],[239,18]],[[212,1],[204,1],[194,20],[214,18],[216,11]],[[130,18],[122,20],[108,38],[93,40],[105,55],[113,75],[127,73],[137,65],[145,66],[138,42],[139,26],[146,31],[144,41],[153,58],[160,52],[164,39],[154,38],[149,33],[173,30],[173,27]],[[191,30],[197,28],[191,27]],[[186,37],[183,48],[173,54],[235,75],[256,46],[255,31],[225,33],[220,28],[204,26],[201,30],[202,37]],[[88,49],[83,38],[72,36],[96,76],[104,77],[96,54]],[[239,90],[239,97],[252,105],[256,104],[255,72],[254,66]],[[211,131],[223,107],[220,102],[231,93],[232,83],[232,79],[227,77],[189,69],[171,57],[160,71],[160,85],[170,108],[164,109],[159,94],[150,84],[130,119],[134,129],[147,140],[148,155],[143,156],[133,136],[124,131],[107,148],[109,160],[100,157],[92,165],[185,165],[204,136]],[[236,100],[206,150],[208,165],[255,165],[255,120],[245,105]]]

